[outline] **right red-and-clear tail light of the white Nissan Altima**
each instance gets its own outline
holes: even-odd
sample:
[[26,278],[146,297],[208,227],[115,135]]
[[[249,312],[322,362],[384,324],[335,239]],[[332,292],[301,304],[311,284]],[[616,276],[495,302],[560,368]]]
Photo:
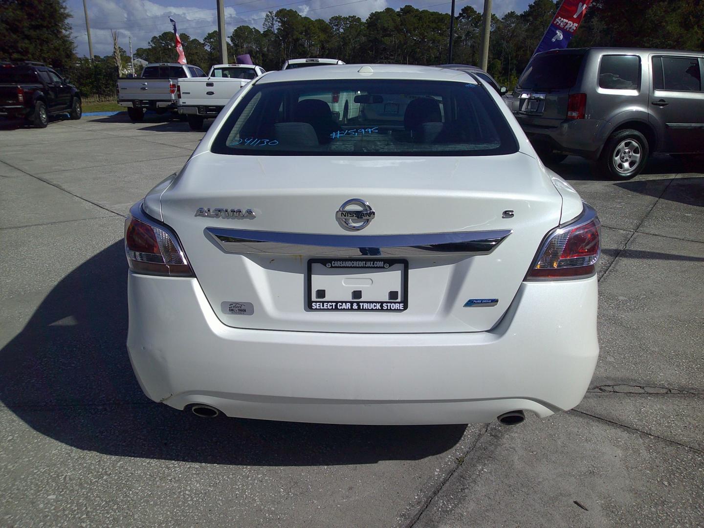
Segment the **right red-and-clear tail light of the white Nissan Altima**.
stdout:
[[569,225],[548,234],[526,280],[569,279],[593,275],[601,251],[601,223],[590,206]]

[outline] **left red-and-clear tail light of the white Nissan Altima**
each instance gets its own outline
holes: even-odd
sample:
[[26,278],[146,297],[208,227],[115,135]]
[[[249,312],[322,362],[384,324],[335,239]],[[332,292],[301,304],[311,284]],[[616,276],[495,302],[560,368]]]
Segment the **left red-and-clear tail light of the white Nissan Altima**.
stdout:
[[193,277],[176,234],[142,212],[142,203],[125,220],[125,253],[130,270],[142,275]]

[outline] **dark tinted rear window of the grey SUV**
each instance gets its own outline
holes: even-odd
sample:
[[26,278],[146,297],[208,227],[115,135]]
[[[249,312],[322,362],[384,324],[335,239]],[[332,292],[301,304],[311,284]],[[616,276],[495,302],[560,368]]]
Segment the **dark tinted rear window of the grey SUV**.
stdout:
[[577,82],[583,54],[548,54],[531,59],[518,80],[517,88],[527,90],[562,90]]

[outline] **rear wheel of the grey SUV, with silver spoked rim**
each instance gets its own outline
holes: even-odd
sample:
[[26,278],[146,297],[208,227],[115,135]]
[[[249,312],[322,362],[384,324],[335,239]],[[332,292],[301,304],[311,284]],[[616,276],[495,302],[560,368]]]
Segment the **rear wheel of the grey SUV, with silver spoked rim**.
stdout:
[[631,180],[648,163],[648,140],[638,130],[619,130],[610,135],[599,156],[599,168],[612,180]]

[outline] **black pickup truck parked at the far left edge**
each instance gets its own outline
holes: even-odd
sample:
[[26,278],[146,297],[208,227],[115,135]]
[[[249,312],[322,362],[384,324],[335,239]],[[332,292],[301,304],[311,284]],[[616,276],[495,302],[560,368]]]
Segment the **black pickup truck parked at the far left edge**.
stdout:
[[44,128],[60,113],[81,118],[81,93],[68,79],[42,63],[0,63],[0,116]]

